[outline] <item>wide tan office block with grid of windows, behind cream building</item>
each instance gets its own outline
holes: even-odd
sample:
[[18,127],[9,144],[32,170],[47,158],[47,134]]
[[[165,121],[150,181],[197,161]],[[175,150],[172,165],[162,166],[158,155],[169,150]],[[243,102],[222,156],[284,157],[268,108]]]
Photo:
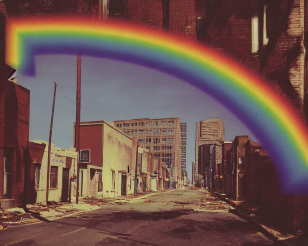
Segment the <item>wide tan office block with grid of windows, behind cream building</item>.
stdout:
[[181,178],[180,118],[133,119],[113,121],[113,124],[131,137],[137,137],[139,145],[154,153],[168,165],[172,182]]

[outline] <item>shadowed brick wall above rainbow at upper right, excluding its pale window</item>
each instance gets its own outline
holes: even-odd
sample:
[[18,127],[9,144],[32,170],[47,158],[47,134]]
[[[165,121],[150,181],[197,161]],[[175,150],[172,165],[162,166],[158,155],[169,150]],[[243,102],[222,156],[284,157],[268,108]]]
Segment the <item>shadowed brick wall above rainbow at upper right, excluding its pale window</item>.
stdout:
[[251,1],[217,1],[205,16],[202,42],[224,51],[266,78],[302,112],[304,96],[303,1],[268,2],[268,44],[252,53]]

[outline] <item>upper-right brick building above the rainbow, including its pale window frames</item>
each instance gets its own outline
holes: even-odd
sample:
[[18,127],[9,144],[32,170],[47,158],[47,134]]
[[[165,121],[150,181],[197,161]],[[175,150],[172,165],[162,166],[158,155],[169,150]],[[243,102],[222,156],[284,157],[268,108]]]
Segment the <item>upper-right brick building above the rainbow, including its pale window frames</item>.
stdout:
[[198,40],[253,70],[303,113],[307,1],[196,0],[196,4]]

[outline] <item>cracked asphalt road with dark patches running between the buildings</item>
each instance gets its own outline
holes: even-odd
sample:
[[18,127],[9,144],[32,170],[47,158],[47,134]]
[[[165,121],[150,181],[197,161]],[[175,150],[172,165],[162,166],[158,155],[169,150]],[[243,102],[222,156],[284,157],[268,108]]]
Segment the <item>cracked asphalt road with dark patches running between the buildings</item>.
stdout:
[[274,245],[226,209],[198,210],[213,201],[205,195],[173,190],[75,217],[10,227],[0,232],[0,245]]

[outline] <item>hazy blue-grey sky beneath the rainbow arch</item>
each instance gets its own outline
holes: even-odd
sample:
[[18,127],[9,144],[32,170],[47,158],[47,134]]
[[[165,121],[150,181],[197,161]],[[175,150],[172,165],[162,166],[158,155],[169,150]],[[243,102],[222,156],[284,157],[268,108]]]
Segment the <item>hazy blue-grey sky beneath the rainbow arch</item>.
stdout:
[[[209,117],[225,120],[225,140],[236,135],[256,137],[227,109],[192,85],[142,66],[82,56],[81,121],[179,117],[187,122],[186,169],[191,178],[195,159],[196,122]],[[39,55],[34,77],[18,73],[18,84],[30,89],[30,140],[48,141],[57,83],[52,143],[73,147],[77,56]]]

